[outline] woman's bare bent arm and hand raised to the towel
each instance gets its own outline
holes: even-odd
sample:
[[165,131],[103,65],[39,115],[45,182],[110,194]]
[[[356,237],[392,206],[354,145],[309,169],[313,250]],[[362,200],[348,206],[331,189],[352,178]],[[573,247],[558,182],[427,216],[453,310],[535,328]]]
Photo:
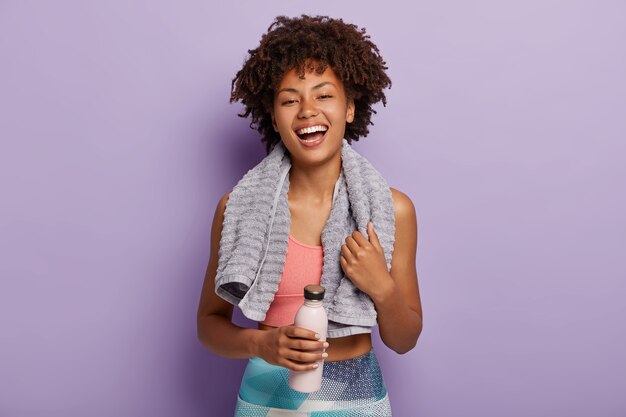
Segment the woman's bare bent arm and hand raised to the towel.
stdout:
[[387,271],[382,247],[372,229],[370,241],[358,231],[346,239],[341,264],[353,283],[374,301],[385,345],[397,353],[406,353],[415,347],[422,331],[415,267],[417,220],[409,197],[393,188],[391,191],[396,223],[391,271]]

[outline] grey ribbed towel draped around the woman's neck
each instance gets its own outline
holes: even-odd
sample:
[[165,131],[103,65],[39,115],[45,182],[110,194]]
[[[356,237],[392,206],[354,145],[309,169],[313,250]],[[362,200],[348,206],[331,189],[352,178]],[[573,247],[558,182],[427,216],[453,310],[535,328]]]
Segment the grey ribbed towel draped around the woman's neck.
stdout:
[[[376,325],[374,303],[341,268],[346,237],[355,230],[367,237],[371,220],[390,270],[395,236],[393,200],[385,179],[346,139],[341,159],[332,209],[322,231],[321,285],[326,289],[329,337],[367,333]],[[279,142],[237,183],[226,204],[215,291],[251,320],[265,319],[283,271],[291,228],[290,168],[289,152]]]

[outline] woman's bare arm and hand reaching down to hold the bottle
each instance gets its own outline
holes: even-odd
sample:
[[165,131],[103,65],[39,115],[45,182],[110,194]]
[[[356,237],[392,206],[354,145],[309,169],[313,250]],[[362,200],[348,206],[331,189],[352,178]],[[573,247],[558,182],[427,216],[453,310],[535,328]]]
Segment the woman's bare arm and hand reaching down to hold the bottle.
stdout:
[[322,342],[315,333],[294,326],[272,330],[239,327],[232,323],[233,306],[215,293],[215,276],[219,259],[224,210],[229,194],[215,209],[211,228],[211,255],[198,306],[198,339],[209,351],[233,359],[258,356],[267,362],[304,371],[315,367],[322,358]]

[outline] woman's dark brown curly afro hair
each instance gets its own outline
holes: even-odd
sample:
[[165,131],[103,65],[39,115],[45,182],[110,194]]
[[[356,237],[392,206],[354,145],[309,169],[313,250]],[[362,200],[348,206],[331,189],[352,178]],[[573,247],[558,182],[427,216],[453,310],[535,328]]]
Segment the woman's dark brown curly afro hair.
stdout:
[[240,117],[252,114],[250,127],[261,133],[268,153],[280,141],[271,118],[274,91],[289,70],[296,69],[304,77],[305,70],[321,74],[328,66],[333,69],[355,104],[354,121],[346,125],[345,132],[350,143],[369,133],[372,113],[376,113],[372,105],[379,101],[387,104],[383,89],[391,87],[391,80],[378,47],[365,28],[342,19],[278,16],[259,46],[248,53],[232,81],[230,102],[243,103]]

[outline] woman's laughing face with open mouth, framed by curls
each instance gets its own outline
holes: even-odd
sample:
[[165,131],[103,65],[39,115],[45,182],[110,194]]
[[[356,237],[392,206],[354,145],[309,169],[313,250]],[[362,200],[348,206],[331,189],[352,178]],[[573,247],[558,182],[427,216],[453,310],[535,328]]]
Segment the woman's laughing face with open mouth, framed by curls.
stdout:
[[285,73],[274,94],[272,124],[292,160],[320,164],[341,157],[346,123],[354,120],[354,101],[330,67],[322,74],[295,69]]

